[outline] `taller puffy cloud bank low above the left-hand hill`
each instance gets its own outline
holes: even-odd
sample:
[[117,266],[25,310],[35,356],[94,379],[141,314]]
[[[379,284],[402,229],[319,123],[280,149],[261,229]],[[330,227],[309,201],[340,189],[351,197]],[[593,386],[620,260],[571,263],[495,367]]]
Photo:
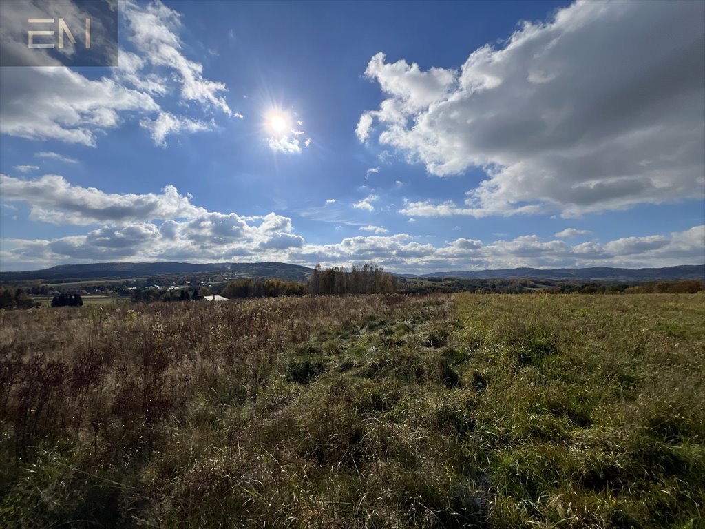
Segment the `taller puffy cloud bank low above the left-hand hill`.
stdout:
[[27,268],[85,260],[286,260],[305,240],[291,219],[271,212],[243,217],[209,212],[173,186],[161,194],[104,193],[61,176],[24,181],[0,175],[4,200],[25,202],[30,219],[96,226],[83,235],[47,241],[2,241],[3,266]]

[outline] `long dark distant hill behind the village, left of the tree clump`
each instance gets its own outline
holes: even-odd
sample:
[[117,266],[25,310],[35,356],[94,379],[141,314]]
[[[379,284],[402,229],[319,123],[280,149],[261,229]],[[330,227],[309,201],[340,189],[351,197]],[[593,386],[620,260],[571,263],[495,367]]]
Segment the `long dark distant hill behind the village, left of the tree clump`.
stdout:
[[228,272],[241,277],[262,277],[306,281],[312,269],[283,262],[212,263],[188,262],[100,262],[92,265],[60,265],[29,272],[0,272],[0,282],[63,279],[104,279],[172,274]]

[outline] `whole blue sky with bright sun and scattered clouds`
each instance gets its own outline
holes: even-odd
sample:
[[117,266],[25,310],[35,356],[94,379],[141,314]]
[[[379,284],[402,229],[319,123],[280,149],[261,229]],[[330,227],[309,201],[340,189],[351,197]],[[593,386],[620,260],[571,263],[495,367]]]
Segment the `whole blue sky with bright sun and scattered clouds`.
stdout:
[[116,67],[1,68],[4,271],[705,262],[705,2],[118,17]]

